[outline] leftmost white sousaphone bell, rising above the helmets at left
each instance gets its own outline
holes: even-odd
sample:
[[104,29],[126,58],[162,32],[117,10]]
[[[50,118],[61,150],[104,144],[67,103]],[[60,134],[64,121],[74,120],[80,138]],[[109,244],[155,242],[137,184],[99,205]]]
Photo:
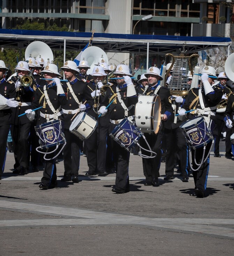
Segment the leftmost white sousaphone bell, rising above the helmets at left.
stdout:
[[47,59],[50,59],[50,61],[54,60],[53,52],[50,49],[46,43],[42,41],[34,41],[31,42],[28,47],[25,50],[25,59],[29,58],[29,56],[32,56],[32,58],[43,58],[45,63]]

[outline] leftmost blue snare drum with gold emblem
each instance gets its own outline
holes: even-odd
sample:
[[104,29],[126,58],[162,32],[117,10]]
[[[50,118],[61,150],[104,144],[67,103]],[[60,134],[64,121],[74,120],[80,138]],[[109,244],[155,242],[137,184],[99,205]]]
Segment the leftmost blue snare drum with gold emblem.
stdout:
[[39,137],[40,149],[46,149],[53,146],[64,144],[66,139],[62,133],[60,120],[53,120],[47,123],[35,126],[36,134]]

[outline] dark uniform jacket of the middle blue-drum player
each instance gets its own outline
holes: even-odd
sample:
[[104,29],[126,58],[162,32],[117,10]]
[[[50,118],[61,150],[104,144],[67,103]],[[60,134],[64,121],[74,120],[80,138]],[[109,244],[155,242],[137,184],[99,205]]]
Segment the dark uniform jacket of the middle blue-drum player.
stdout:
[[[104,96],[103,102],[101,103],[101,106],[107,106],[113,99],[113,103],[109,106],[109,114],[110,114],[110,120],[116,120],[116,124],[118,124],[118,120],[122,120],[125,118],[125,111],[122,105],[120,104],[117,93],[116,93],[117,85],[112,85],[107,89],[107,92]],[[138,93],[136,95],[133,95],[132,97],[127,97],[127,85],[126,83],[124,85],[118,86],[118,91],[121,96],[121,100],[124,102],[125,106],[129,108],[131,105],[134,105],[138,102]],[[133,116],[134,115],[134,107],[129,109],[127,112],[127,116]]]

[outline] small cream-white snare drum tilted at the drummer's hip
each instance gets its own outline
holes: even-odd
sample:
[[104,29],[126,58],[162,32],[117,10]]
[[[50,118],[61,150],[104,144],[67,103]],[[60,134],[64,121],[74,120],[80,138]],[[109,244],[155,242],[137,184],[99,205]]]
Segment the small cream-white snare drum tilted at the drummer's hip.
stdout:
[[97,127],[97,121],[86,112],[80,112],[72,121],[69,131],[81,140],[87,140]]

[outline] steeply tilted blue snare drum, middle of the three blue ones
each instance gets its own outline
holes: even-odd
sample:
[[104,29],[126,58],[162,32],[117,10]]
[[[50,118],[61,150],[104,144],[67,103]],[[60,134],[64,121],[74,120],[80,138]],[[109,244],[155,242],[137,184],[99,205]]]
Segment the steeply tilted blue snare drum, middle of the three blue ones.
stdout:
[[110,133],[110,137],[127,151],[136,146],[141,136],[142,132],[127,118],[123,119]]

